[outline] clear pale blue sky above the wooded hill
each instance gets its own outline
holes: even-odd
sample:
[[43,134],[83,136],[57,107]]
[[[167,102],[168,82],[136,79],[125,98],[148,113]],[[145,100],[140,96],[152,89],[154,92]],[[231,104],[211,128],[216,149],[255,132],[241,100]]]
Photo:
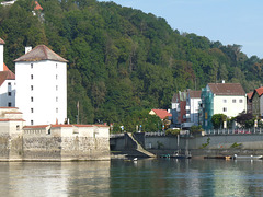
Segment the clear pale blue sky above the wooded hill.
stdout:
[[181,33],[224,45],[241,45],[248,57],[263,58],[262,0],[99,0],[152,13]]

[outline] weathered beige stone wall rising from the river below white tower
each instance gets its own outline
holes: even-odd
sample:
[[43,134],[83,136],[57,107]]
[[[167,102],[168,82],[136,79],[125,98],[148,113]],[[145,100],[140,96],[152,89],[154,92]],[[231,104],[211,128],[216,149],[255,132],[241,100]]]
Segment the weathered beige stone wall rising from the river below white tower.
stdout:
[[0,136],[0,161],[110,160],[108,138]]

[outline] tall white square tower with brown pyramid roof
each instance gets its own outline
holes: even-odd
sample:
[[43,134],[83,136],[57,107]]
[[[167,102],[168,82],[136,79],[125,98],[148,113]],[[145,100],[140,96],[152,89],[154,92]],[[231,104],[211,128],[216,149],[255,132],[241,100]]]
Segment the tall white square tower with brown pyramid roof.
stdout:
[[14,60],[15,106],[26,125],[64,124],[67,118],[67,60],[39,45]]

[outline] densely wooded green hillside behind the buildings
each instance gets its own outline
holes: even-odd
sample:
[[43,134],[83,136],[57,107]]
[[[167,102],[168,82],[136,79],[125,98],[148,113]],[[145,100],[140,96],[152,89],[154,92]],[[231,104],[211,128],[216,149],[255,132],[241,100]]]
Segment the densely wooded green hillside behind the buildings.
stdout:
[[146,128],[148,109],[169,108],[176,91],[225,80],[240,82],[248,92],[262,83],[262,59],[248,58],[239,45],[180,33],[162,18],[113,2],[38,2],[44,18],[33,16],[32,0],[0,5],[4,61],[14,71],[13,60],[24,54],[24,46],[39,44],[68,59],[71,123],[79,101],[82,124]]

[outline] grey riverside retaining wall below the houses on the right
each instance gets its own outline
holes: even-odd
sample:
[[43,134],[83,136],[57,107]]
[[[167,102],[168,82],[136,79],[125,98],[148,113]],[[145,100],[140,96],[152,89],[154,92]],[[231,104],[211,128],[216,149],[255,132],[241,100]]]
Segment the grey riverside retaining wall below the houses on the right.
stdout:
[[[133,149],[123,141],[124,139],[114,139],[115,146],[112,146],[114,150]],[[190,150],[192,155],[263,154],[262,134],[208,135],[180,138],[176,136],[144,136],[144,139],[140,134],[139,141],[144,141],[145,149],[156,154],[173,153],[178,150],[182,152]]]

